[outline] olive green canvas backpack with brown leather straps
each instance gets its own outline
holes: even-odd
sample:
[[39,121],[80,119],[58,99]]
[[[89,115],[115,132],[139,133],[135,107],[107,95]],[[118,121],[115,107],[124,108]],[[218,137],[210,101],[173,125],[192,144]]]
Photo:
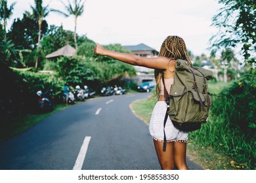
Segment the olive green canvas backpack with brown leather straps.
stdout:
[[[206,123],[209,107],[212,105],[210,93],[207,92],[207,80],[212,76],[213,72],[210,70],[190,67],[182,59],[176,61],[174,84],[169,95],[166,89],[164,93],[167,114],[177,129],[194,131],[200,129],[202,123]],[[164,127],[165,123],[166,120]]]

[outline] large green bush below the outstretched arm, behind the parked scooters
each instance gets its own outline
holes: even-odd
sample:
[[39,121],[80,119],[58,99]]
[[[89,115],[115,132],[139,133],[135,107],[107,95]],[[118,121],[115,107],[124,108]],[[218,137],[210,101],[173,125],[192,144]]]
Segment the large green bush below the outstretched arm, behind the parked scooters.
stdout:
[[86,84],[95,90],[117,84],[124,77],[136,75],[133,66],[116,60],[95,61],[95,58],[75,56],[58,58],[57,64],[57,75],[62,80],[72,86]]

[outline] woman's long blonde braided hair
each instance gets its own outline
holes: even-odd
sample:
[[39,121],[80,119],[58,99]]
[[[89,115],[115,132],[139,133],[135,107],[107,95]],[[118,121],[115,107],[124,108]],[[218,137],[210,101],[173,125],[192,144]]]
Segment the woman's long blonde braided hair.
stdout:
[[[164,56],[170,59],[183,59],[190,67],[192,67],[191,59],[186,52],[186,44],[179,36],[168,36],[163,44],[161,44],[158,56]],[[160,97],[161,77],[163,76],[163,69],[155,69],[156,78],[156,94]]]

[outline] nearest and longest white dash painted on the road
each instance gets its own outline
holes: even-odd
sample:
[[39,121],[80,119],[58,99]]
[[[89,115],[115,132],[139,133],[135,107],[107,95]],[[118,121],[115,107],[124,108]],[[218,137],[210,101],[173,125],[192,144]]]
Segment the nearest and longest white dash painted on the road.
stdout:
[[85,155],[87,153],[90,140],[91,137],[85,137],[85,140],[83,140],[83,145],[81,146],[81,149],[75,161],[75,165],[73,167],[74,170],[81,170],[81,168],[83,167],[83,161],[85,161]]

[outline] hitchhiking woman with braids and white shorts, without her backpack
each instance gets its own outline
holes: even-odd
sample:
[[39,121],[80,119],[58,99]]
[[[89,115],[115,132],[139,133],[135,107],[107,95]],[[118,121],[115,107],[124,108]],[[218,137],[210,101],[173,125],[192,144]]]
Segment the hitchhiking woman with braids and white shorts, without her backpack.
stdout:
[[163,41],[160,53],[157,58],[143,58],[134,54],[125,54],[106,50],[100,44],[96,44],[95,54],[108,56],[131,65],[139,65],[155,69],[156,93],[158,102],[156,103],[150,119],[150,134],[154,139],[154,146],[158,155],[161,169],[188,169],[186,165],[186,141],[188,132],[180,131],[173,126],[170,118],[165,125],[165,135],[167,140],[166,150],[163,151],[163,120],[167,105],[164,99],[162,76],[167,91],[171,89],[174,82],[175,60],[184,59],[191,63],[186,52],[186,44],[181,37],[169,36]]

